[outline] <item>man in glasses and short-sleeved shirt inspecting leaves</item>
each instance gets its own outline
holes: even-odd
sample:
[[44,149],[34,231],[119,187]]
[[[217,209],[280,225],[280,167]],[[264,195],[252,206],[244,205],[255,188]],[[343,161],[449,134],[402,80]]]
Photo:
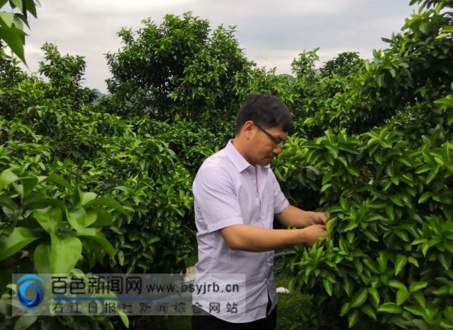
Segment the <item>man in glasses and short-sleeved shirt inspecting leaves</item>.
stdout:
[[[193,184],[198,262],[195,284],[213,274],[242,274],[245,298],[226,293],[228,279],[216,278],[216,293],[194,293],[201,309],[193,329],[275,329],[273,250],[312,245],[326,237],[326,213],[290,206],[269,164],[281,153],[293,126],[286,105],[273,95],[249,95],[237,114],[235,139],[201,165]],[[302,229],[273,229],[273,218]],[[213,285],[216,287],[216,285]],[[199,290],[200,291],[200,290]],[[206,291],[206,290],[205,290]],[[232,312],[230,300],[242,311]],[[230,304],[211,309],[215,300]],[[220,313],[220,308],[223,308]]]

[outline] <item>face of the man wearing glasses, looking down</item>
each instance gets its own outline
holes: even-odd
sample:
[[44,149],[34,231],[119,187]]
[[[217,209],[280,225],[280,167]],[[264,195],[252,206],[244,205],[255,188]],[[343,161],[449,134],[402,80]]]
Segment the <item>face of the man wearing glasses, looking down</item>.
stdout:
[[264,129],[254,125],[256,131],[252,136],[249,148],[249,160],[253,164],[266,166],[271,163],[274,157],[281,153],[283,141],[288,138],[288,132],[280,127]]

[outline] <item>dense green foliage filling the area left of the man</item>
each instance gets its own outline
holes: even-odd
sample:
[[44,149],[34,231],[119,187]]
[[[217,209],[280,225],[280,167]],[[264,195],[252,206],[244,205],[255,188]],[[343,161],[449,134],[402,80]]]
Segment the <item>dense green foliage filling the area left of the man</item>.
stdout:
[[[1,292],[11,273],[184,271],[194,249],[190,172],[138,119],[92,104],[79,84],[83,59],[42,49],[47,81],[2,54]],[[96,324],[87,322],[60,320]]]

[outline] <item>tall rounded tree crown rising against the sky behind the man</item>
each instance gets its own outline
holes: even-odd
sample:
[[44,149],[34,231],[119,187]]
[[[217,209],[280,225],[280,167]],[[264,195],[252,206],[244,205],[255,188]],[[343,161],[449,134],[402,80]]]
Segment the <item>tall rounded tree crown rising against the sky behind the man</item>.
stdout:
[[136,33],[123,28],[118,35],[124,47],[107,54],[114,112],[146,111],[170,122],[235,114],[252,62],[239,49],[233,27],[210,33],[208,21],[191,13],[143,24]]

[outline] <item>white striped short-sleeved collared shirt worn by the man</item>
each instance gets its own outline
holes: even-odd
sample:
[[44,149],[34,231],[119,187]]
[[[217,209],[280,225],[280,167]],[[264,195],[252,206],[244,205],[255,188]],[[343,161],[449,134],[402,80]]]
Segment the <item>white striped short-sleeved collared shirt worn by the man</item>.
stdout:
[[[193,184],[198,262],[197,283],[208,283],[209,274],[245,274],[245,313],[213,314],[228,322],[252,322],[266,317],[268,293],[276,305],[273,251],[245,252],[228,247],[220,229],[245,224],[272,228],[273,215],[289,206],[270,166],[250,165],[229,141],[223,150],[201,165]],[[225,285],[228,283],[220,283]],[[227,301],[215,295],[192,294],[209,312],[209,302]],[[230,295],[230,293],[224,293]],[[223,311],[224,312],[224,311]]]

